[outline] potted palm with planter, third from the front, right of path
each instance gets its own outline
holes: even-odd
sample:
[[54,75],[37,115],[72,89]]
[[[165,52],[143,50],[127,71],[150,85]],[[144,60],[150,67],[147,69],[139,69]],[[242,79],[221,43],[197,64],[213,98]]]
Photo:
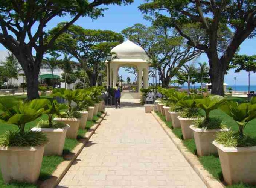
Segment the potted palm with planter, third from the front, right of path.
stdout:
[[189,126],[194,124],[194,121],[201,118],[201,113],[196,106],[195,100],[193,99],[181,100],[180,103],[184,107],[183,111],[180,113],[180,116],[178,116],[183,139],[192,139],[193,132]]

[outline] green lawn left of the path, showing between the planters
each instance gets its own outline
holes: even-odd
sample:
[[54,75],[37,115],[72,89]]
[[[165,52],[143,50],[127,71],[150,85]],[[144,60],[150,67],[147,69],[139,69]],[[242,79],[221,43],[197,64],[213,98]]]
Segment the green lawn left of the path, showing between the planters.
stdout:
[[[43,96],[43,97],[45,97],[45,96]],[[102,115],[102,113],[99,112],[97,114],[97,116],[93,117],[93,121],[87,121],[86,128],[84,130],[79,129],[77,139],[66,139],[64,149],[63,149],[63,154],[70,153],[76,147],[76,145],[79,143],[78,139],[84,138],[84,135],[87,132],[87,130],[90,129],[90,127],[95,124],[95,122],[99,119],[99,117],[101,117],[101,115]],[[35,120],[33,122],[30,122],[30,123],[27,123],[25,129],[29,130],[30,128],[34,127],[35,123],[37,121],[40,121],[41,119],[46,120],[47,115],[42,115],[37,120]],[[0,135],[5,133],[7,130],[13,130],[13,129],[18,129],[18,128],[15,125],[0,123]],[[55,171],[56,167],[62,161],[64,161],[62,156],[44,156],[42,166],[41,166],[41,170],[40,170],[39,179],[40,180],[46,180],[47,178],[49,178],[49,176],[51,176],[53,171]],[[19,188],[23,188],[23,187],[24,188],[25,187],[26,188],[35,188],[36,186],[26,184],[26,183],[18,183],[18,182],[13,182],[13,183],[10,183],[8,185],[4,185],[2,175],[0,173],[0,187],[1,188],[17,188],[17,187],[19,187]]]

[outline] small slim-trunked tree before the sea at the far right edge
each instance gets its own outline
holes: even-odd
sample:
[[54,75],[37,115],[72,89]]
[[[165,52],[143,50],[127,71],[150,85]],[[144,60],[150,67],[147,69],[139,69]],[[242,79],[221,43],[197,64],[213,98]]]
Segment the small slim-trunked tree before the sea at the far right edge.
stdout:
[[231,60],[231,65],[236,69],[235,72],[239,73],[241,70],[248,72],[248,93],[250,92],[250,72],[256,72],[256,55],[238,55],[236,54]]

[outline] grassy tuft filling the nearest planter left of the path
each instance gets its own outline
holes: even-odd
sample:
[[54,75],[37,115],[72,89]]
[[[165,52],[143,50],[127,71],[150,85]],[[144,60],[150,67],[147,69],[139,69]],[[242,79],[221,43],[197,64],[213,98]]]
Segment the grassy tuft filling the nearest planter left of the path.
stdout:
[[1,147],[33,147],[47,143],[47,137],[43,132],[20,132],[10,130],[0,137]]

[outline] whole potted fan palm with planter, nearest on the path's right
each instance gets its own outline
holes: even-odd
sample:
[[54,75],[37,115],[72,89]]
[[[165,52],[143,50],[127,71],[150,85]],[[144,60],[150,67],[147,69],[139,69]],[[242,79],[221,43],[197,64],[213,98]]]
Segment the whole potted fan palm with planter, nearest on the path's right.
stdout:
[[220,109],[233,118],[238,132],[220,132],[213,144],[218,148],[222,174],[228,185],[256,184],[256,139],[244,133],[248,123],[256,118],[256,97],[250,103],[226,101]]

